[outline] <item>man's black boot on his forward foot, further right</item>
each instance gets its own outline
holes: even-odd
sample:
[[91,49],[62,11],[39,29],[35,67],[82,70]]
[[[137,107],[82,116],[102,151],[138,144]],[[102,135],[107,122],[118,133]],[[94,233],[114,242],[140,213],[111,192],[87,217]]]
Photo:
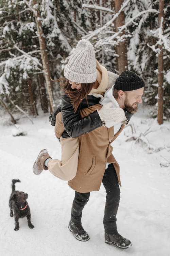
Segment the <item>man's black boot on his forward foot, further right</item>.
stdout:
[[129,248],[132,245],[130,240],[122,237],[118,233],[108,234],[106,232],[105,232],[105,243],[116,245],[119,248]]

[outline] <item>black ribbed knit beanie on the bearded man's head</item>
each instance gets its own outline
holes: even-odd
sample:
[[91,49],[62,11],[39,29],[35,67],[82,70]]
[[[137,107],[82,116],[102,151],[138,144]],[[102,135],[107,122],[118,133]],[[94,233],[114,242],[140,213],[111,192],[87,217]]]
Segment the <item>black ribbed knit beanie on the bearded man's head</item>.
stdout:
[[122,91],[132,91],[144,87],[145,83],[136,73],[125,70],[116,79],[114,88]]

